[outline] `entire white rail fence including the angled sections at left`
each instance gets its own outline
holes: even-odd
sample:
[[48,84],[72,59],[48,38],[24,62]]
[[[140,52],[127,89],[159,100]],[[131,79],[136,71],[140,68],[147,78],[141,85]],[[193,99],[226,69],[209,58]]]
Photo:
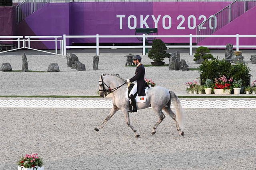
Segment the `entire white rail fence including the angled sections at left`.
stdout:
[[[142,38],[142,45],[100,45],[100,40],[103,38]],[[192,38],[197,37],[208,37],[208,38],[234,38],[236,40],[236,44],[233,45],[236,48],[236,51],[239,51],[240,48],[256,48],[256,45],[240,45],[240,38],[256,38],[256,35],[63,35],[62,36],[0,36],[0,42],[2,41],[14,41],[18,42],[18,47],[15,49],[11,49],[8,51],[16,51],[18,49],[32,49],[36,51],[42,51],[45,53],[50,53],[54,55],[66,55],[67,49],[74,48],[95,48],[96,55],[100,55],[100,48],[140,48],[142,49],[142,55],[146,55],[146,48],[152,48],[152,45],[146,45],[146,40],[149,37],[155,38],[187,38],[187,43],[189,45],[166,45],[167,48],[187,48],[189,49],[189,55],[192,55],[192,49],[200,47],[199,45],[192,44]],[[66,45],[68,38],[95,38],[96,45],[94,46],[84,46],[84,45]],[[34,41],[54,41],[55,43],[55,53],[51,53],[49,51],[43,51],[39,49],[33,49],[30,47],[30,44]],[[60,49],[58,49],[58,42],[60,43]],[[256,42],[256,39],[255,41]],[[23,44],[23,45],[22,45]],[[22,45],[22,47],[21,47]],[[226,48],[226,45],[204,45],[204,47],[208,48]],[[58,53],[58,50],[60,53]],[[8,52],[2,51],[0,53]]]

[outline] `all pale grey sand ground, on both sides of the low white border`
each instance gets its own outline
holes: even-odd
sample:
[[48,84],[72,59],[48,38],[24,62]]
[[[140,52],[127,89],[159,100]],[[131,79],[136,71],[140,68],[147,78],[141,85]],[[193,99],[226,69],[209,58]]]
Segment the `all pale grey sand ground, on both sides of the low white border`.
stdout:
[[[86,71],[68,68],[63,56],[27,56],[29,70],[46,71],[50,63],[58,63],[60,72],[0,72],[0,95],[96,96],[101,73],[120,74],[123,78],[134,75],[134,67],[124,66],[127,54],[101,54],[99,70],[92,69],[94,54],[77,55]],[[213,55],[224,57],[224,54]],[[181,54],[180,58],[190,68],[198,67],[193,57]],[[256,68],[250,64],[250,54],[244,54],[244,60],[255,78]],[[165,61],[168,63],[168,59]],[[0,63],[7,62],[13,70],[22,69],[21,56],[0,57]],[[142,63],[150,62],[147,56],[142,56]],[[146,67],[146,78],[177,95],[187,95],[185,83],[199,76],[198,71]],[[109,111],[0,108],[0,169],[15,170],[19,156],[36,152],[44,159],[46,170],[255,170],[255,109],[184,109],[184,137],[178,134],[168,116],[152,136],[157,117],[152,109],[139,110],[130,114],[132,125],[141,135],[138,139],[126,125],[121,111],[99,132],[94,131]]]

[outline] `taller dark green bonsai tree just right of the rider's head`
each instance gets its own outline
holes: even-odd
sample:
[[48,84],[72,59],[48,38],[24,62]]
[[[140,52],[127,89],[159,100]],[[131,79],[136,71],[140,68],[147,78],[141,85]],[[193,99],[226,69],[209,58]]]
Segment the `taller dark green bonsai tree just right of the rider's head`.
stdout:
[[148,52],[148,57],[154,62],[163,61],[164,58],[170,57],[166,50],[167,47],[161,39],[154,39],[152,41],[152,49]]

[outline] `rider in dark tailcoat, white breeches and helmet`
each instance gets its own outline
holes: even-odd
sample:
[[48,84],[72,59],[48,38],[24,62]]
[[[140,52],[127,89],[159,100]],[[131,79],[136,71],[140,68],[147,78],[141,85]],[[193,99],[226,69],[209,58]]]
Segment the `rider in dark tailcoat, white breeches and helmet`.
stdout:
[[139,55],[136,55],[133,57],[132,59],[133,63],[136,66],[136,70],[135,70],[135,76],[133,76],[130,79],[127,79],[127,82],[134,82],[134,86],[129,94],[130,99],[132,101],[132,107],[130,107],[130,110],[128,112],[137,112],[137,107],[136,107],[136,101],[134,98],[134,94],[137,92],[138,90],[138,96],[146,96],[145,94],[145,67],[143,66],[141,62],[141,57]]

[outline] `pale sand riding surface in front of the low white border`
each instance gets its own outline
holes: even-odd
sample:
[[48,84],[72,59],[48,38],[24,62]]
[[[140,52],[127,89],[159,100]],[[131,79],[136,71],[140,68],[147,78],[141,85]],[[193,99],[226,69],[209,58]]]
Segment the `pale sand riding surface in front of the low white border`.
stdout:
[[255,170],[255,109],[185,109],[184,137],[152,109],[130,114],[134,133],[110,109],[0,108],[0,169],[15,170],[19,156],[38,153],[45,169]]

